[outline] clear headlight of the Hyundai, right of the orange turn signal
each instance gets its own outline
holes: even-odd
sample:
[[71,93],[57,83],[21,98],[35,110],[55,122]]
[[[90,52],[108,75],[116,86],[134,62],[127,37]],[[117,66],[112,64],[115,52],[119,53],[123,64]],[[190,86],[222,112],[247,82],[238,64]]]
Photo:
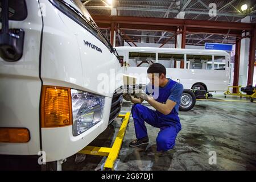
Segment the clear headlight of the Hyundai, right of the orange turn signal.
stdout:
[[77,136],[102,119],[105,97],[71,89],[73,135]]

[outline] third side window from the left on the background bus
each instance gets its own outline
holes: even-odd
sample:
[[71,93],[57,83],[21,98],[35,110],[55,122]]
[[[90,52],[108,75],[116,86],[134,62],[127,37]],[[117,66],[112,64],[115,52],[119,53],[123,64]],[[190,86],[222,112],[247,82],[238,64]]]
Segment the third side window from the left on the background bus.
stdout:
[[211,55],[187,55],[189,69],[212,69]]

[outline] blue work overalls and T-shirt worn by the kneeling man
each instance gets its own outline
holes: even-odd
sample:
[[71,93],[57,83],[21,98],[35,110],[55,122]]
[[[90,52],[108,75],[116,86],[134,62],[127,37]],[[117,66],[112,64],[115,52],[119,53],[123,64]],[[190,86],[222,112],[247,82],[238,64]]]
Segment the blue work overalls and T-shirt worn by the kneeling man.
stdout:
[[[148,86],[149,85],[146,87],[146,92]],[[178,110],[182,93],[183,85],[171,79],[169,79],[168,83],[163,88],[159,87],[156,101],[165,103],[169,99],[177,103],[171,113],[167,115],[160,113],[158,110],[149,109],[141,104],[133,105],[131,113],[133,114],[137,139],[147,137],[147,129],[144,123],[147,122],[149,125],[160,129],[158,137],[156,138],[158,151],[167,151],[174,148],[177,133],[181,130]],[[147,94],[150,93],[147,92]],[[154,92],[152,95],[154,97]]]

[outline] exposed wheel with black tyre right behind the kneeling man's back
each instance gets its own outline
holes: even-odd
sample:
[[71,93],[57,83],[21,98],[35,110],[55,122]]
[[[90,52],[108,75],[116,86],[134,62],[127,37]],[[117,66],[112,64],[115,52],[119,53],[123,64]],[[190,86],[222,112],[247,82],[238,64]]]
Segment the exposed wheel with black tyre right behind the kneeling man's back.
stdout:
[[180,99],[179,110],[189,111],[195,106],[195,104],[196,104],[195,94],[189,89],[184,89]]

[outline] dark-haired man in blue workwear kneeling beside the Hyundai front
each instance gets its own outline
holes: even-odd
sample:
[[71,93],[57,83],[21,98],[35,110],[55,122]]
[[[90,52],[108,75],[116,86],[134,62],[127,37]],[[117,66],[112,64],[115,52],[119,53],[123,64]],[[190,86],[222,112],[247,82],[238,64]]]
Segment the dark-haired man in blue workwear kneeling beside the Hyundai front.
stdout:
[[[144,123],[147,122],[149,125],[160,129],[156,138],[157,150],[168,151],[174,148],[177,133],[181,130],[178,110],[183,85],[166,78],[166,68],[162,64],[151,64],[147,73],[150,84],[146,87],[146,93],[137,93],[134,96],[128,93],[123,94],[125,100],[134,103],[131,113],[137,139],[130,142],[129,146],[138,147],[142,144],[148,144],[147,129]],[[152,93],[148,92],[150,86],[153,88],[151,90],[154,90]],[[158,96],[155,94],[156,89],[158,89]],[[156,110],[141,105],[143,101],[147,101]]]

